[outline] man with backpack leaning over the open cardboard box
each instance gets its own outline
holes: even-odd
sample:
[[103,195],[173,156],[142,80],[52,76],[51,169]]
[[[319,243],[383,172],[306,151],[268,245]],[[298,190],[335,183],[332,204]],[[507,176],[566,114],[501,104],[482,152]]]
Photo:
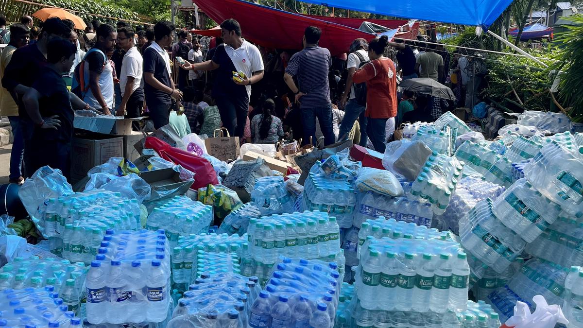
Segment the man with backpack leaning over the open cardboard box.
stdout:
[[97,29],[95,47],[75,68],[73,91],[90,106],[110,115],[114,108],[114,83],[107,51],[113,50],[117,31],[113,26],[101,24]]

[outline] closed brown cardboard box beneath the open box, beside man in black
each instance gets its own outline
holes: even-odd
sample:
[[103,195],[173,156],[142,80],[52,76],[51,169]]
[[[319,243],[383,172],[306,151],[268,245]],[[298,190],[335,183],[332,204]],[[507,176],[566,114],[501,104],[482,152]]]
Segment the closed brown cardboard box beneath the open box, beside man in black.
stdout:
[[73,163],[71,177],[78,181],[87,176],[87,172],[101,165],[111,157],[124,156],[124,138],[106,136],[74,137],[72,142]]

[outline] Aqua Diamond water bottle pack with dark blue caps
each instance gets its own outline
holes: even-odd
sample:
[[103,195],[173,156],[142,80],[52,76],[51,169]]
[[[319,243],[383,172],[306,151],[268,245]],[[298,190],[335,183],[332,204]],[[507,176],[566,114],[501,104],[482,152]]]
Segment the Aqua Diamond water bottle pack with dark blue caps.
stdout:
[[170,246],[163,229],[108,229],[86,278],[93,324],[163,322],[170,301]]

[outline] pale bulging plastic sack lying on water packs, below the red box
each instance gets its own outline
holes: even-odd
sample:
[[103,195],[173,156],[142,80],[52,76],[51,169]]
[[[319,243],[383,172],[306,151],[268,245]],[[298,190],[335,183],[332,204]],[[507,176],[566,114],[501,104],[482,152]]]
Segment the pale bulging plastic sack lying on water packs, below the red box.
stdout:
[[387,170],[361,168],[356,178],[356,187],[360,191],[373,191],[385,196],[402,196],[403,187],[399,180]]

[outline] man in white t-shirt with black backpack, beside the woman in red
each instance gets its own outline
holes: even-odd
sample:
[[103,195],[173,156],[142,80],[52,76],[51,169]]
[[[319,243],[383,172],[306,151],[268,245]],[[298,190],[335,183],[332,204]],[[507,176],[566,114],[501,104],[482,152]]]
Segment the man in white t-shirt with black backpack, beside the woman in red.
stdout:
[[[354,84],[352,82],[352,75],[362,65],[369,62],[368,58],[368,42],[363,38],[356,39],[350,44],[350,54],[346,61],[346,68],[348,75],[346,78],[346,86],[340,100],[340,107],[344,107],[344,119],[340,125],[339,138],[350,132],[354,125],[354,121],[359,118],[360,123],[360,145],[366,147],[368,144],[367,122],[368,118],[364,116],[366,109],[366,84]],[[359,95],[357,98],[356,96]],[[348,101],[347,101],[348,99]]]

